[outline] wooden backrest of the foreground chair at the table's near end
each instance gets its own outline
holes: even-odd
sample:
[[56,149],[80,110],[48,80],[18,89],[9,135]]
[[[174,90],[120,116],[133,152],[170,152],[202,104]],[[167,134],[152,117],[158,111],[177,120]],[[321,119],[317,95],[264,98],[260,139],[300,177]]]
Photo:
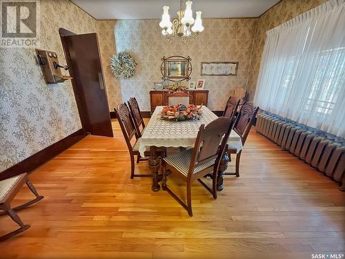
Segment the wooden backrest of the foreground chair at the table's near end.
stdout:
[[233,120],[227,117],[219,117],[207,126],[201,124],[190,160],[188,178],[192,178],[195,166],[211,160],[215,160],[215,169],[218,168],[233,125]]

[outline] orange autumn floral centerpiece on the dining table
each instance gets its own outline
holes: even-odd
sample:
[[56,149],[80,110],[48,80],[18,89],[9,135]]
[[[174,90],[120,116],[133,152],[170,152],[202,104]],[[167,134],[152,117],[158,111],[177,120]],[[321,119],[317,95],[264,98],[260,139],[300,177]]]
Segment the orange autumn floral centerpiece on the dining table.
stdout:
[[165,106],[161,111],[161,119],[171,120],[171,121],[185,121],[191,119],[200,119],[201,117],[201,106],[197,107],[194,104],[184,104]]

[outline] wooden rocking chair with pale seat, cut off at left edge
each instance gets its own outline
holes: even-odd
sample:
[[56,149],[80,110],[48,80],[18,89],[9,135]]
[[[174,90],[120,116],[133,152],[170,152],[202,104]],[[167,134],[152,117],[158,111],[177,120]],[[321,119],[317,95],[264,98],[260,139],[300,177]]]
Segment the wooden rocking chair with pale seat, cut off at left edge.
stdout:
[[[26,183],[26,185],[29,187],[30,191],[34,193],[36,198],[34,200],[30,200],[30,202],[21,204],[18,207],[11,208],[10,203],[12,202],[14,196],[17,195],[17,193],[21,189],[21,186],[23,186],[24,183]],[[16,229],[10,233],[7,233],[4,236],[0,236],[0,242],[3,240],[6,240],[7,238],[17,235],[18,233],[26,231],[26,229],[30,227],[30,225],[24,224],[21,221],[16,211],[20,211],[21,209],[29,207],[30,205],[42,199],[43,199],[43,196],[37,193],[36,189],[34,188],[32,183],[28,179],[27,173],[22,173],[21,175],[17,175],[12,178],[8,178],[8,179],[0,181],[0,210],[2,210],[0,212],[0,215],[8,214],[10,218],[14,220],[14,222],[19,224],[19,229]]]

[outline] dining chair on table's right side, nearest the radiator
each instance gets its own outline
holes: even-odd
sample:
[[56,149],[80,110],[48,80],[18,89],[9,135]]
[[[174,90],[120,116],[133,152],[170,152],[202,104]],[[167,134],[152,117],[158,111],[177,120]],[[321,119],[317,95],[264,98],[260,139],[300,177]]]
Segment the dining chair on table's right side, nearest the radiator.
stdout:
[[[243,146],[253,125],[257,111],[259,111],[259,107],[255,108],[253,102],[244,103],[239,111],[233,130],[241,137]],[[239,177],[239,160],[241,159],[242,150],[237,153],[236,148],[228,148],[228,153],[236,154],[235,173],[224,173],[224,175],[236,175]]]

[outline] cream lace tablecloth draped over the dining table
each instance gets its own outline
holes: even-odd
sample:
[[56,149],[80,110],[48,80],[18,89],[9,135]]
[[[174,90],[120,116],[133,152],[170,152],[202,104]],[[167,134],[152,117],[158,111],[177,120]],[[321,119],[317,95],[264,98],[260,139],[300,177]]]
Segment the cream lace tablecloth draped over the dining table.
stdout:
[[[217,115],[207,107],[201,108],[202,115],[199,120],[170,122],[160,119],[159,115],[164,106],[157,106],[152,114],[148,125],[145,128],[139,144],[139,152],[144,157],[144,152],[150,149],[150,146],[164,147],[193,147],[197,139],[197,133],[201,124],[205,126],[217,119]],[[237,153],[242,150],[241,137],[235,131],[231,131],[229,148],[236,148]]]

